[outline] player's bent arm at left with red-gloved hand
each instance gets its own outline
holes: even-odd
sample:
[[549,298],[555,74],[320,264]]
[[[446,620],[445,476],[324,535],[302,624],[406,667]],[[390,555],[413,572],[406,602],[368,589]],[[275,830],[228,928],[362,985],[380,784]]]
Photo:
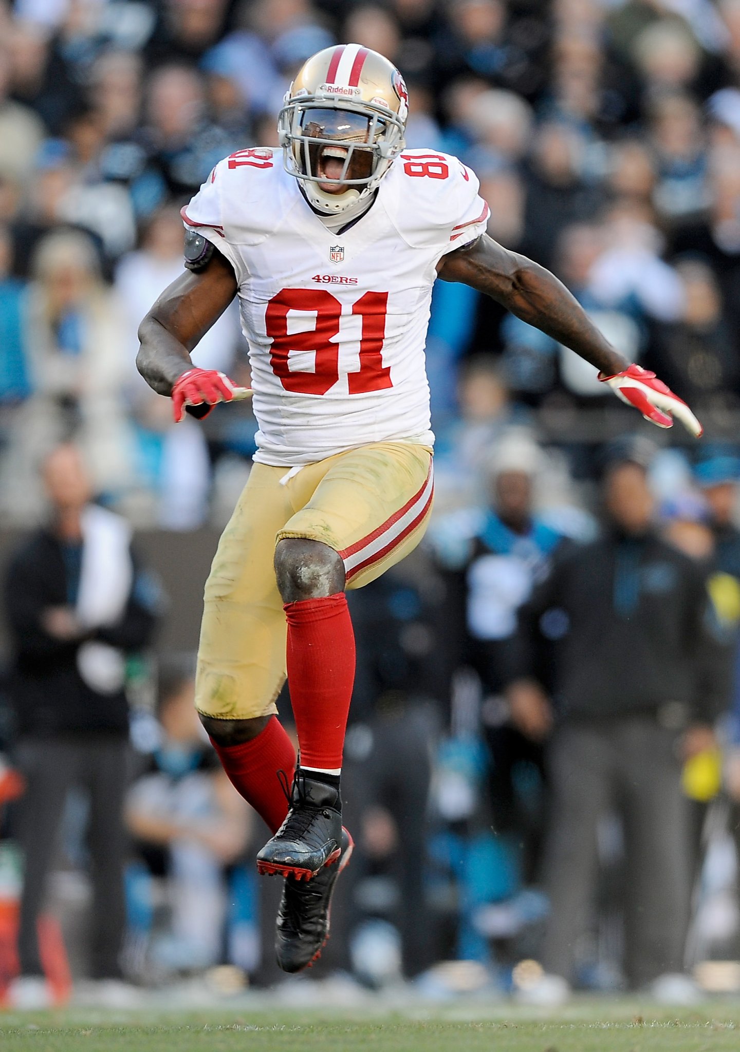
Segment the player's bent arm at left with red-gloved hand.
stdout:
[[[191,404],[199,396],[208,405],[229,400],[225,378],[196,369],[191,351],[236,295],[234,268],[219,251],[213,252],[202,269],[186,270],[164,289],[139,326],[141,346],[136,359],[139,372],[158,394],[174,396],[178,384],[186,387],[189,381],[193,390],[185,400]],[[181,416],[177,408],[176,404],[176,419]]]

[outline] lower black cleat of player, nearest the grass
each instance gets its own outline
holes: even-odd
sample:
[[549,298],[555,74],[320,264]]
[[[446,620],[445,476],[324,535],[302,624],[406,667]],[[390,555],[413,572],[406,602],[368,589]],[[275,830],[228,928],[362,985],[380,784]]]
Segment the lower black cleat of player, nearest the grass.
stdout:
[[332,895],[337,877],[352,857],[352,836],[342,829],[341,854],[324,866],[313,881],[285,877],[278,922],[275,953],[284,972],[311,968],[328,942]]

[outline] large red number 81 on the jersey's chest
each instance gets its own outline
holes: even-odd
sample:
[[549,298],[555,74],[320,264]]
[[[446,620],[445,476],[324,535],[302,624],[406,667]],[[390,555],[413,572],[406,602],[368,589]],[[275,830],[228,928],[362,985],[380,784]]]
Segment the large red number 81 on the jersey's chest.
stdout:
[[[362,318],[360,368],[347,373],[351,394],[393,387],[391,369],[383,365],[387,292],[365,292],[352,306]],[[307,332],[287,331],[289,310],[316,313],[316,327]],[[267,304],[265,328],[272,338],[271,364],[285,390],[299,394],[325,394],[339,380],[339,322],[342,305],[323,288],[283,288]],[[313,372],[288,368],[288,351],[315,351]]]

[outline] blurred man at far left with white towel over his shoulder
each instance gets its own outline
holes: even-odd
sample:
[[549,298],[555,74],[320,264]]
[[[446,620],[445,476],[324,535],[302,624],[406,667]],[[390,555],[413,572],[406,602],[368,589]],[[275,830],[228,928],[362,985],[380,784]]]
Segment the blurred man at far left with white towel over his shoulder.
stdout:
[[92,503],[92,479],[74,446],[49,454],[44,482],[48,525],[16,551],[3,601],[17,762],[27,783],[17,826],[25,856],[21,976],[13,992],[19,1007],[48,1002],[37,920],[73,786],[89,794],[89,974],[102,983],[122,977],[126,656],[149,644],[160,605],[152,578],[132,555],[127,523]]

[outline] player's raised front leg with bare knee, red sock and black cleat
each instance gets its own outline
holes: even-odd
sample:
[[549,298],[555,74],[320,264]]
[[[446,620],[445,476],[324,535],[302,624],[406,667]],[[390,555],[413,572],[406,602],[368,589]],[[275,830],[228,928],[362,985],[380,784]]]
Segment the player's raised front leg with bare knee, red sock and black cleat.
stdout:
[[[402,443],[331,458],[313,495],[278,533],[275,566],[300,767],[296,822],[258,855],[262,872],[308,878],[339,854],[339,776],[355,676],[344,588],[378,576],[421,539],[432,507],[431,460],[427,449]],[[293,481],[307,484],[311,474],[302,474]],[[314,822],[306,807],[316,811]]]

